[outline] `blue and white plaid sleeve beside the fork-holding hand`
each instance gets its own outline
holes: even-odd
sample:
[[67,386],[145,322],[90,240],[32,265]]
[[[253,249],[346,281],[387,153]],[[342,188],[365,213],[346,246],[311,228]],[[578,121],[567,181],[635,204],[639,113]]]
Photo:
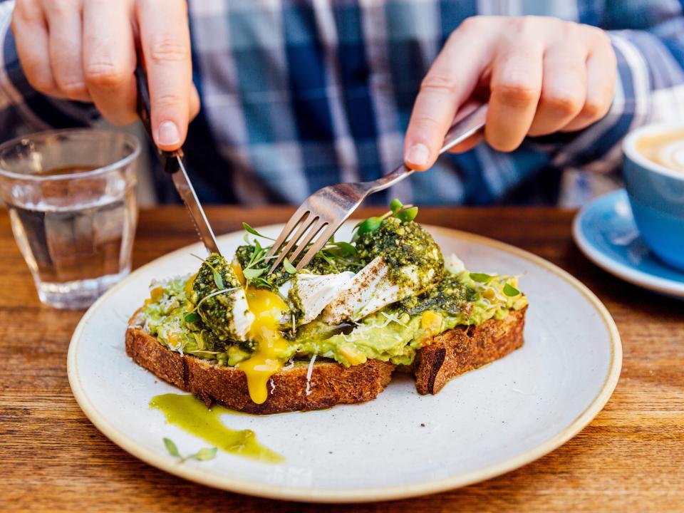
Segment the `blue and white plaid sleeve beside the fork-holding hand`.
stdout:
[[[581,132],[551,136],[551,165],[614,170],[620,143],[646,123],[684,119],[684,15],[679,2],[607,2],[603,28],[613,43],[618,76],[613,103],[602,120]],[[636,4],[636,3],[635,3]],[[554,144],[555,143],[555,144]],[[555,151],[554,151],[555,150]]]

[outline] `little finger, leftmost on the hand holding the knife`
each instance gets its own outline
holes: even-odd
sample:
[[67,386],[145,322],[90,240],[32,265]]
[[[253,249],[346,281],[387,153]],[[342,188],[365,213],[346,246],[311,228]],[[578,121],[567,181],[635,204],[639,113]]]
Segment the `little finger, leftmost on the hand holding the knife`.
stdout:
[[52,76],[48,30],[42,9],[33,1],[17,4],[12,13],[12,33],[24,75],[35,90],[61,98]]

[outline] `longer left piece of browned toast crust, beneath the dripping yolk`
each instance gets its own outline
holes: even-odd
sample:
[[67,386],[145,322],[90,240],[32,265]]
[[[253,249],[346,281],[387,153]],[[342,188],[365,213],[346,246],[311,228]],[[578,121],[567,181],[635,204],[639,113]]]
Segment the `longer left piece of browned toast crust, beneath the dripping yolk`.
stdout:
[[321,410],[341,403],[363,403],[383,391],[395,368],[393,363],[375,360],[349,368],[318,361],[307,379],[308,362],[298,363],[274,374],[269,381],[269,397],[256,404],[249,398],[244,372],[170,351],[135,323],[129,323],[126,331],[126,353],[138,365],[197,395],[207,405],[219,403],[247,413]]

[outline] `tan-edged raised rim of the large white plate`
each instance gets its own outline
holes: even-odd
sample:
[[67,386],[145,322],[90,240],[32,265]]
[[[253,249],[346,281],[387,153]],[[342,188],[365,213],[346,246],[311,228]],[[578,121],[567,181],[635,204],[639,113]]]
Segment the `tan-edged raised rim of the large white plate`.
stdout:
[[[258,229],[269,229],[281,226],[282,224],[269,224],[264,227],[258,227]],[[465,474],[446,477],[440,480],[426,480],[409,485],[374,487],[368,489],[337,490],[273,486],[269,484],[259,484],[253,481],[234,479],[224,475],[212,475],[212,473],[207,472],[207,470],[201,470],[185,465],[177,465],[177,463],[170,460],[169,457],[161,455],[157,451],[152,450],[150,447],[145,447],[137,442],[134,442],[132,439],[130,439],[130,437],[125,435],[125,433],[119,432],[112,425],[110,425],[103,415],[100,415],[94,405],[90,403],[90,400],[88,399],[86,392],[81,385],[81,378],[78,375],[78,368],[76,367],[76,353],[86,324],[88,321],[90,321],[90,318],[93,316],[95,311],[100,308],[100,305],[105,303],[105,301],[108,301],[109,297],[115,294],[115,291],[120,289],[120,287],[124,286],[125,284],[128,284],[130,281],[133,281],[138,273],[142,273],[142,271],[157,264],[162,259],[172,258],[180,252],[187,252],[187,248],[197,246],[199,243],[190,244],[189,246],[176,249],[148,262],[147,264],[140,266],[129,276],[126,276],[125,279],[103,294],[103,296],[95,301],[95,303],[90,306],[90,309],[83,314],[81,321],[79,321],[75,331],[73,332],[67,355],[67,373],[73,396],[88,420],[90,420],[90,422],[93,423],[93,425],[95,425],[95,427],[97,427],[98,430],[103,433],[103,435],[108,437],[109,440],[114,442],[123,450],[129,452],[131,455],[137,457],[148,465],[157,467],[158,469],[164,470],[172,475],[183,477],[184,479],[197,482],[199,484],[204,484],[204,486],[224,489],[239,494],[252,495],[254,497],[326,503],[379,502],[384,500],[407,499],[410,497],[444,492],[450,489],[464,487],[468,484],[489,480],[492,477],[497,477],[527,465],[534,460],[538,460],[540,457],[560,447],[565,442],[570,440],[571,437],[574,437],[574,435],[583,430],[584,427],[586,427],[586,425],[588,425],[591,420],[596,417],[596,415],[603,409],[603,406],[605,406],[608,400],[611,398],[613,390],[618,383],[622,368],[622,343],[615,321],[601,300],[598,299],[598,297],[596,297],[596,295],[591,292],[586,285],[579,281],[579,279],[576,279],[567,271],[564,271],[564,269],[561,269],[559,266],[556,266],[556,264],[552,264],[550,261],[547,261],[536,254],[527,252],[526,250],[520,249],[518,247],[514,247],[505,242],[500,242],[496,239],[491,239],[478,234],[472,234],[470,232],[436,227],[430,224],[424,224],[423,226],[432,233],[440,232],[447,237],[455,237],[457,239],[465,240],[466,242],[477,242],[479,244],[484,244],[487,247],[509,252],[517,257],[532,261],[532,263],[553,272],[556,274],[556,276],[563,279],[571,286],[574,286],[582,294],[582,296],[584,296],[585,299],[587,299],[591,305],[594,306],[597,314],[606,325],[609,335],[609,343],[611,345],[611,361],[608,365],[608,372],[603,380],[603,385],[601,385],[601,390],[597,393],[596,397],[594,397],[584,411],[580,413],[569,425],[567,425],[564,430],[559,432],[558,435],[551,437],[549,440],[546,440],[546,442],[541,443],[537,445],[537,447],[533,447],[522,454],[510,457],[502,462],[487,465],[487,467],[483,467],[479,470],[466,472]],[[239,234],[239,232],[229,232],[222,235],[221,238],[234,236],[235,234]]]

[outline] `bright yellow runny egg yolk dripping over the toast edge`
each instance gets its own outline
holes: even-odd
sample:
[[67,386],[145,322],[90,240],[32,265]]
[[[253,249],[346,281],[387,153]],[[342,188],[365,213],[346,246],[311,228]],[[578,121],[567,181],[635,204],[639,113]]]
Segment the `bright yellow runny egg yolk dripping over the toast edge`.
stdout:
[[247,360],[235,366],[247,375],[249,397],[254,403],[264,403],[269,393],[266,384],[276,372],[283,368],[283,361],[278,358],[287,347],[287,341],[279,331],[280,319],[286,311],[285,301],[271,291],[264,289],[247,289],[247,304],[254,314],[249,338],[257,343],[257,348]]

